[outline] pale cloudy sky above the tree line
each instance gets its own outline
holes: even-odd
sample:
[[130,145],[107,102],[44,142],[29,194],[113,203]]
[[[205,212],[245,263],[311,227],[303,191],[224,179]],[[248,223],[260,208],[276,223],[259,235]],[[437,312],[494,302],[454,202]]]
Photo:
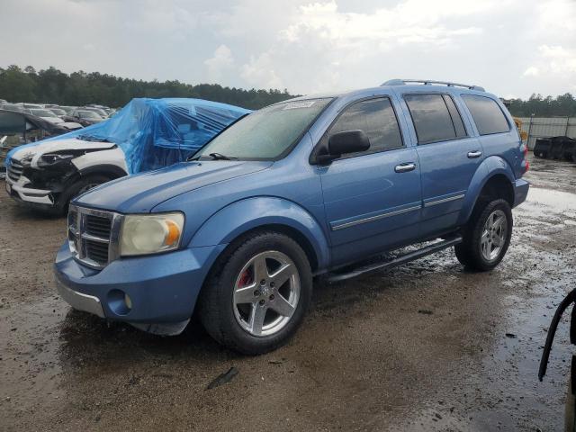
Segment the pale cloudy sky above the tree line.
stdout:
[[312,94],[422,78],[576,94],[576,0],[0,0],[0,67]]

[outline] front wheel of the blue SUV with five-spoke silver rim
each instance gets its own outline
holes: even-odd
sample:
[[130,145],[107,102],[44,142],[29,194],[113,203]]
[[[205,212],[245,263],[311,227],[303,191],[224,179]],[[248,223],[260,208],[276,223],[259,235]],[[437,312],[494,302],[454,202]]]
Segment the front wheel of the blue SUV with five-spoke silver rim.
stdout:
[[247,355],[272,351],[293,336],[311,301],[308,257],[292,238],[260,231],[239,238],[212,267],[200,319],[221,345]]

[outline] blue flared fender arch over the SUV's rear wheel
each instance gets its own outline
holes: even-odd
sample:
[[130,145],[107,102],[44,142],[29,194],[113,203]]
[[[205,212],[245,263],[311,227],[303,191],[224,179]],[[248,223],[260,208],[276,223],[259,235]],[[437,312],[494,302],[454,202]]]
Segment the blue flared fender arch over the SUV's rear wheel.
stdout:
[[474,205],[480,196],[484,184],[486,184],[491,177],[494,175],[506,175],[511,184],[514,184],[516,178],[512,167],[506,162],[502,157],[490,156],[486,157],[476,172],[472,177],[470,182],[470,187],[466,191],[466,196],[464,196],[464,203],[462,206],[462,211],[460,211],[460,217],[458,218],[458,225],[464,225],[472,214]]

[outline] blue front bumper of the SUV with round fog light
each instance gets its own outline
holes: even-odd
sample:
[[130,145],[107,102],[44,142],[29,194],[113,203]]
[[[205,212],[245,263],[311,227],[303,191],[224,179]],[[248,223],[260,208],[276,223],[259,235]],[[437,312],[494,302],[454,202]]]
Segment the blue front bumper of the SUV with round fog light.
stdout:
[[190,320],[204,278],[224,247],[121,258],[94,270],[78,263],[66,243],[54,264],[58,293],[76,310],[151,333],[177,334]]

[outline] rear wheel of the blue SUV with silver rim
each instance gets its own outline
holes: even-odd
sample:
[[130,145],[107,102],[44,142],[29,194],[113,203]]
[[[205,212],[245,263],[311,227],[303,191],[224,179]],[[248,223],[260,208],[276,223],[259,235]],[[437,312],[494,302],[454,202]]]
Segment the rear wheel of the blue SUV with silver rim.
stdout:
[[512,236],[512,211],[506,200],[478,202],[455,255],[465,267],[486,272],[500,264]]

